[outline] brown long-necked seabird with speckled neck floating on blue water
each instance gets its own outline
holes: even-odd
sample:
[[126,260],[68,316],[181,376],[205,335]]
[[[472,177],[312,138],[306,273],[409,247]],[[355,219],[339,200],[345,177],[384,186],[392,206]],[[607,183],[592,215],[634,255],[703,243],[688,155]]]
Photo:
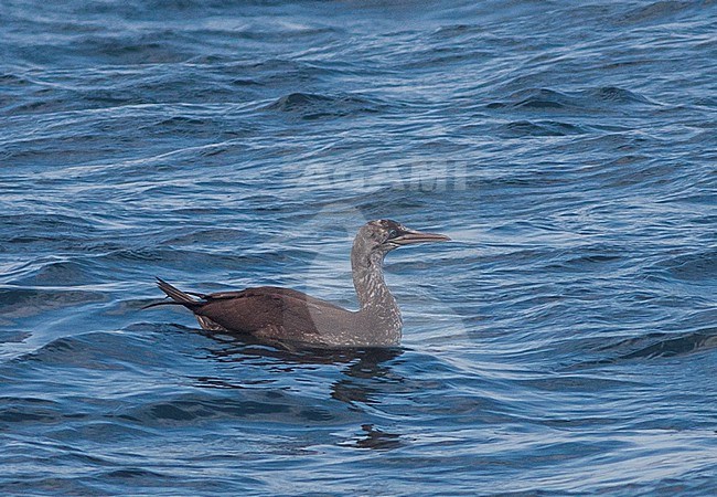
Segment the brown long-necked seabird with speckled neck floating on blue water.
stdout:
[[351,251],[353,284],[361,306],[355,311],[289,288],[259,286],[196,294],[182,292],[160,278],[159,288],[172,300],[147,307],[181,305],[194,313],[206,330],[250,335],[267,341],[319,348],[396,346],[403,321],[398,304],[384,281],[384,257],[399,246],[448,240],[446,235],[410,230],[390,220],[364,224]]

